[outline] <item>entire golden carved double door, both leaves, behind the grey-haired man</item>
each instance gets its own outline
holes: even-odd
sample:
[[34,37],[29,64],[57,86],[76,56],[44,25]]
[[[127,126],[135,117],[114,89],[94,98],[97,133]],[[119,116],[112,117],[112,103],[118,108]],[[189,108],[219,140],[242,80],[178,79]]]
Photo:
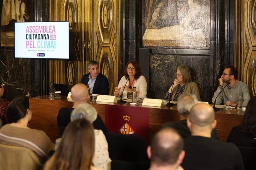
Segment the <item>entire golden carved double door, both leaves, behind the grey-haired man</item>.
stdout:
[[100,72],[109,80],[110,94],[118,84],[119,1],[51,0],[52,21],[69,21],[69,60],[50,60],[50,81],[68,84],[80,82],[88,73],[87,63],[96,60]]

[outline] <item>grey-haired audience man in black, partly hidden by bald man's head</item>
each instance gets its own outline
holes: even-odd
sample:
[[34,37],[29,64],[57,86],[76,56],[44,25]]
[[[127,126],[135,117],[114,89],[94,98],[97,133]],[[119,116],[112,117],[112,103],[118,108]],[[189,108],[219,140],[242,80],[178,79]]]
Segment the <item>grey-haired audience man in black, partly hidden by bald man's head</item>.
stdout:
[[[180,95],[177,100],[177,110],[180,113],[180,121],[163,123],[162,128],[174,128],[183,138],[191,136],[191,132],[187,126],[187,117],[189,115],[191,108],[197,103],[198,100],[196,95],[190,93],[184,93]],[[211,132],[211,138],[219,140],[215,128]]]

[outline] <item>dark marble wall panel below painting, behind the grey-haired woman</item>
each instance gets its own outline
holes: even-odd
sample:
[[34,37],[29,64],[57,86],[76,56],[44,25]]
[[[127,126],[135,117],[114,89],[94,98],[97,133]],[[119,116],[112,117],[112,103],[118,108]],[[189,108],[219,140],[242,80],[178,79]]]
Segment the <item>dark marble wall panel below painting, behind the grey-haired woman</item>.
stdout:
[[[202,101],[208,100],[210,77],[209,50],[152,50],[151,55],[151,90],[156,98],[163,99],[175,79],[177,67],[187,65],[192,81],[197,83]],[[190,54],[190,55],[187,55]]]

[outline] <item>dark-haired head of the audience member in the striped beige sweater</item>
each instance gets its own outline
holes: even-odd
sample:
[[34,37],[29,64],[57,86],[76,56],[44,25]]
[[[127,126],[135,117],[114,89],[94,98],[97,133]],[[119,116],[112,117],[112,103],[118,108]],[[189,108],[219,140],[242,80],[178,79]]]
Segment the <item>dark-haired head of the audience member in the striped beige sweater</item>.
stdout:
[[31,110],[29,108],[29,100],[26,97],[16,97],[9,104],[6,111],[6,122],[17,123],[20,119],[31,119]]

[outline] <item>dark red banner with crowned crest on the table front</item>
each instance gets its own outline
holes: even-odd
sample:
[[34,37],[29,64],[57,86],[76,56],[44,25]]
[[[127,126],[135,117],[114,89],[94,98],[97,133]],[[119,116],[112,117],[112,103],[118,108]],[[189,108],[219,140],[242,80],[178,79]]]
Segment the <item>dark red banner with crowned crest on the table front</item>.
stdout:
[[105,105],[105,125],[111,132],[140,135],[149,143],[149,108]]

